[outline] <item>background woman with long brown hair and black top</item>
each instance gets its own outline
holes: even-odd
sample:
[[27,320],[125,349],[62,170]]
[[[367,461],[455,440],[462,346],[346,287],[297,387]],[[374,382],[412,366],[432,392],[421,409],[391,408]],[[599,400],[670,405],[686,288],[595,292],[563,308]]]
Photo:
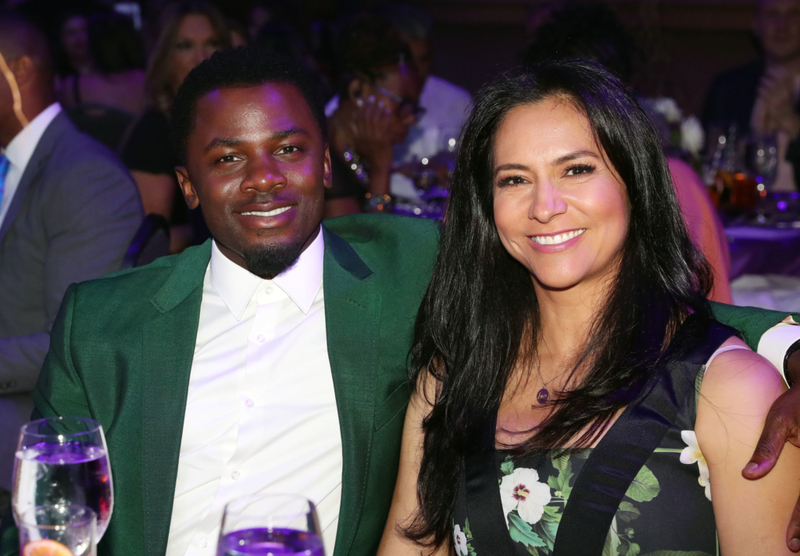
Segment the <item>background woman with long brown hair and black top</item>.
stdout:
[[145,92],[149,109],[130,132],[121,158],[139,186],[147,214],[160,214],[171,224],[173,253],[203,241],[207,230],[202,215],[190,216],[174,168],[179,164],[170,140],[169,109],[178,87],[197,64],[229,46],[222,16],[202,0],[168,5],[161,14],[159,33],[147,68]]

